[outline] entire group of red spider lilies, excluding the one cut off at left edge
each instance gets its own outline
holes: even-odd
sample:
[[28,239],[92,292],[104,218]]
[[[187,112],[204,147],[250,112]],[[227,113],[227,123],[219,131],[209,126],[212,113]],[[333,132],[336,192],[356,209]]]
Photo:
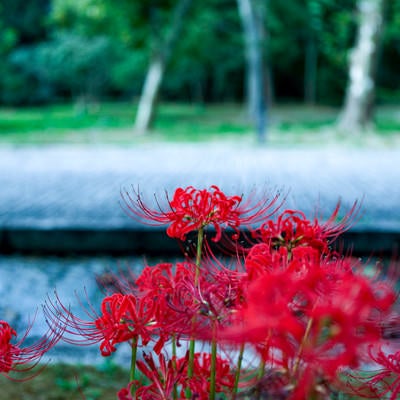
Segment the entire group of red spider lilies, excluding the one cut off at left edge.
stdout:
[[[224,393],[325,400],[332,388],[344,387],[347,370],[371,360],[386,368],[371,382],[380,385],[390,375],[390,387],[381,393],[399,393],[398,355],[366,356],[368,346],[382,341],[382,326],[396,301],[393,287],[330,248],[351,224],[356,205],[339,222],[338,206],[320,223],[295,210],[270,219],[276,197],[249,206],[216,186],[178,188],[167,211],[149,208],[139,195],[125,196],[128,211],[150,224],[168,225],[169,236],[184,240],[196,231],[204,241],[198,241],[195,261],[113,277],[112,293],[99,313],[89,309],[88,320],[77,318],[58,298],[46,305],[50,324],[63,327],[71,343],[99,344],[103,356],[119,343],[131,345],[131,382],[119,399],[215,399]],[[223,228],[239,233],[245,226],[251,235],[243,238],[251,241],[240,248],[233,241],[237,253],[227,266],[211,253],[203,236],[208,226],[216,231],[215,241]],[[210,352],[196,352],[195,341],[208,342]],[[187,353],[179,358],[176,350],[184,343]],[[246,349],[258,366],[242,367]],[[149,384],[136,380],[135,368]]]

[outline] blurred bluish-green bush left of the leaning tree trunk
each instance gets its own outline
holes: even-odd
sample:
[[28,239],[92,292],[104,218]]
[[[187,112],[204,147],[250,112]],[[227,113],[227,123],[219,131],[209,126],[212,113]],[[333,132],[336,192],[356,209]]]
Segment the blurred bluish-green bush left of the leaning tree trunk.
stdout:
[[37,46],[19,47],[9,55],[3,101],[19,104],[28,97],[35,103],[55,95],[96,99],[110,88],[115,54],[108,37],[68,33]]

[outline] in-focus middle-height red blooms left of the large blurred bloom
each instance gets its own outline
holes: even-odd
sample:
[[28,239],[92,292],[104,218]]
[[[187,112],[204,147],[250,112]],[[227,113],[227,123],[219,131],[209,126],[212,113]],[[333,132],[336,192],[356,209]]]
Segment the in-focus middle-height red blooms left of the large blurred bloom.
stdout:
[[137,338],[143,346],[152,344],[158,354],[171,336],[188,338],[196,332],[204,337],[212,321],[227,323],[242,297],[243,273],[204,272],[194,284],[195,269],[191,262],[147,266],[134,282],[121,279],[119,292],[104,297],[99,313],[87,310],[87,320],[72,314],[58,298],[48,301],[45,314],[52,326],[65,328],[64,340],[99,343],[103,356],[115,352],[117,344]]

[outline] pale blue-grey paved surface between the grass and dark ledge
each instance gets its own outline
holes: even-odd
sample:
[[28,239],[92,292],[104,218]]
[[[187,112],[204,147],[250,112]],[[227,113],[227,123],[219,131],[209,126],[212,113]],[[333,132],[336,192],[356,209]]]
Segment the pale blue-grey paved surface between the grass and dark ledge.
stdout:
[[[121,210],[121,190],[139,187],[151,203],[154,193],[164,199],[165,190],[177,186],[211,184],[232,193],[281,190],[288,193],[287,207],[310,216],[316,208],[329,216],[339,199],[344,211],[362,200],[353,232],[398,238],[399,160],[400,149],[269,149],[241,143],[3,147],[0,240],[3,247],[12,247],[18,237],[28,240],[20,234],[24,230],[135,231],[143,227]],[[85,239],[78,242],[84,247]]]

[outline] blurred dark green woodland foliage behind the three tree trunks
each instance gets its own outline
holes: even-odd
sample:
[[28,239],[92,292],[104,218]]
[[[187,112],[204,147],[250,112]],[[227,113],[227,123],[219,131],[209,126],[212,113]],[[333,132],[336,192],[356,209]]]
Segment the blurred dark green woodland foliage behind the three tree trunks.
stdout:
[[[164,79],[154,99],[251,101],[240,13],[248,3],[257,5],[260,101],[340,106],[351,84],[349,55],[360,40],[360,4],[382,1],[1,0],[0,104],[137,102],[160,55]],[[180,3],[187,8],[174,19]],[[374,98],[395,102],[400,0],[380,10],[385,24],[372,56]]]

